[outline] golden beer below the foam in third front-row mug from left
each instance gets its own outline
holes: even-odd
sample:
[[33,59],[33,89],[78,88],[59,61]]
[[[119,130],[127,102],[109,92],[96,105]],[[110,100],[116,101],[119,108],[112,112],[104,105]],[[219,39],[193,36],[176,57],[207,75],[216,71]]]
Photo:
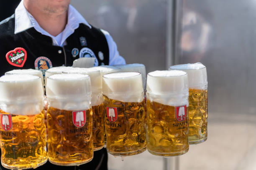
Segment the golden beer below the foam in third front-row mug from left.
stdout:
[[[143,102],[121,102],[103,96],[108,153],[130,156],[146,150],[145,112]],[[108,119],[107,107],[116,107],[118,118]]]

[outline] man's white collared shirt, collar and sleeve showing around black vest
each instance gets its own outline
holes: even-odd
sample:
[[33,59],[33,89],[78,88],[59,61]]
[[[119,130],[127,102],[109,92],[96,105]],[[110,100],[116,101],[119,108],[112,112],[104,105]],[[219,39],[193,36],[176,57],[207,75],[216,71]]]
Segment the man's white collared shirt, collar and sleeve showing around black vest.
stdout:
[[[79,27],[79,24],[83,23],[89,28],[92,28],[89,23],[84,19],[84,17],[72,6],[69,5],[68,10],[68,21],[65,29],[59,35],[54,37],[53,35],[46,32],[43,28],[40,27],[36,19],[26,10],[26,7],[21,0],[20,4],[15,10],[15,34],[28,30],[29,28],[35,28],[36,31],[40,32],[43,35],[49,36],[53,40],[53,45],[61,46],[66,45],[65,42],[67,38],[74,33]],[[109,65],[120,65],[125,64],[123,57],[119,55],[117,50],[117,45],[115,44],[111,35],[105,31],[101,30],[106,37],[109,47]]]

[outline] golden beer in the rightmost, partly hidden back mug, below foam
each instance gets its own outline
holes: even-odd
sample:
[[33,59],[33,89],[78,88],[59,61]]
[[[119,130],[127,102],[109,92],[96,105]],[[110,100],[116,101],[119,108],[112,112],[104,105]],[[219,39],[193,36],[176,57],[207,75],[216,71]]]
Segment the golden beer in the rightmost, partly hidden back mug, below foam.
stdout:
[[207,90],[189,89],[189,143],[207,140]]

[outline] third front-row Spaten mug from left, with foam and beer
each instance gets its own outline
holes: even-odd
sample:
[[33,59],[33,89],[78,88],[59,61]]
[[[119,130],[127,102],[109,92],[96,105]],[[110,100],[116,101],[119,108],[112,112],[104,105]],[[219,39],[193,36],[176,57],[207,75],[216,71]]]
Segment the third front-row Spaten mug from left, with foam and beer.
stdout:
[[141,73],[106,74],[102,92],[108,153],[129,156],[144,152],[146,122]]

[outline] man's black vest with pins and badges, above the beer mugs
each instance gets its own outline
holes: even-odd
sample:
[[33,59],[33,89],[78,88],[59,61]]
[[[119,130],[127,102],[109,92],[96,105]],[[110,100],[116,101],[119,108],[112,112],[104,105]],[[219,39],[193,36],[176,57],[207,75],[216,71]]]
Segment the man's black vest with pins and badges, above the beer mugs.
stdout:
[[[62,65],[72,66],[73,61],[79,57],[95,57],[95,66],[109,64],[108,42],[98,28],[89,28],[87,25],[80,24],[79,28],[67,38],[66,45],[63,47],[54,46],[51,37],[42,35],[34,28],[17,34],[14,34],[14,30],[15,15],[0,23],[0,57],[2,58],[0,59],[0,75],[14,69],[36,68],[40,70]],[[15,53],[11,52],[17,47],[26,51],[26,61],[24,61],[25,56],[17,55],[17,50]],[[8,52],[11,53],[6,57]],[[18,57],[13,57],[13,55]],[[46,60],[44,67],[40,67],[43,63],[40,63],[40,60]]]

